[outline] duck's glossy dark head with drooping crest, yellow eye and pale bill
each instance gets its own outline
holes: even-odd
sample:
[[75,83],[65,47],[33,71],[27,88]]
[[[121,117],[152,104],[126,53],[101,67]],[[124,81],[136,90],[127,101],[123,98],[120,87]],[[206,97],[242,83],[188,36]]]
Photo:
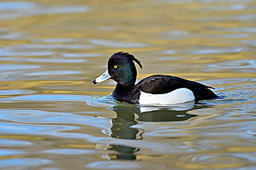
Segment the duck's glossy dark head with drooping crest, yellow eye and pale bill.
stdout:
[[113,54],[108,60],[107,70],[94,79],[93,83],[97,84],[112,79],[122,86],[134,85],[137,78],[137,70],[133,61],[142,68],[140,62],[132,54],[123,51]]

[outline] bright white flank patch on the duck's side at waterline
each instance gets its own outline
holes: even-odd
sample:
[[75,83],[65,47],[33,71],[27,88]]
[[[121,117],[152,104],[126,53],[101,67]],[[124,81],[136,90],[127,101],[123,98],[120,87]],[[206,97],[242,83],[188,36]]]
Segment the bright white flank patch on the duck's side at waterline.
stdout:
[[183,102],[191,102],[195,100],[193,92],[187,88],[178,88],[170,93],[150,94],[140,91],[139,104],[155,105],[155,104],[177,104]]

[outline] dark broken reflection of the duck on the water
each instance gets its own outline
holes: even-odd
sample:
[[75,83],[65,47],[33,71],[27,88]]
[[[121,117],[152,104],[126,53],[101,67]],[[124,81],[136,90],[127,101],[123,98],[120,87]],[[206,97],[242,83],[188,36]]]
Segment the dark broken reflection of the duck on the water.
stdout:
[[[138,106],[132,104],[119,104],[113,107],[113,111],[117,113],[117,118],[111,119],[112,127],[110,129],[102,129],[104,134],[111,137],[122,139],[142,139],[144,129],[133,127],[138,121],[145,122],[163,122],[163,121],[184,121],[197,115],[188,114],[187,112],[194,109],[209,107],[183,105],[182,107],[151,107]],[[133,148],[122,145],[111,145],[109,150],[118,152],[118,154],[107,154],[106,159],[126,159],[136,160],[139,148]]]

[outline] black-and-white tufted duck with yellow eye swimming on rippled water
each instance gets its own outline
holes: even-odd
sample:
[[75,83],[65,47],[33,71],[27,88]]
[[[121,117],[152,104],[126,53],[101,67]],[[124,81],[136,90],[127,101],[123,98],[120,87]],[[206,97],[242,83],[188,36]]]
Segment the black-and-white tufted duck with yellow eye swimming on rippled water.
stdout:
[[113,91],[116,100],[140,105],[168,105],[218,98],[210,90],[214,87],[171,75],[151,75],[135,84],[135,63],[142,69],[134,55],[124,51],[116,52],[109,58],[107,70],[94,79],[93,83],[114,80],[117,82]]

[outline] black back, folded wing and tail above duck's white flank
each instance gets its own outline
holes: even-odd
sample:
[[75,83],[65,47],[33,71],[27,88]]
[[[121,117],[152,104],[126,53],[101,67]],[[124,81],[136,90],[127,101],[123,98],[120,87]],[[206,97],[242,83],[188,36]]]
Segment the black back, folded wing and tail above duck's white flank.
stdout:
[[169,75],[149,76],[141,80],[137,85],[140,86],[141,91],[151,94],[165,94],[178,88],[188,88],[194,93],[196,100],[217,97],[217,95],[209,89],[213,87]]

